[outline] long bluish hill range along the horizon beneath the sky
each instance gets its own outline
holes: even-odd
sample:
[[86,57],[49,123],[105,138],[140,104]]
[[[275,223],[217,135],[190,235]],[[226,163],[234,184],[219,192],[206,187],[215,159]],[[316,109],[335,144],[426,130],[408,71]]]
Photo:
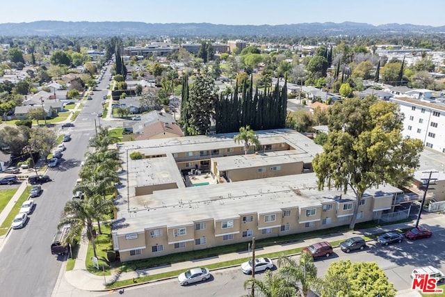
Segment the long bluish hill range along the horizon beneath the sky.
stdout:
[[282,25],[225,25],[209,23],[148,24],[143,22],[60,22],[38,21],[30,23],[0,24],[3,36],[332,36],[375,34],[426,34],[445,33],[445,26],[413,24],[302,23]]

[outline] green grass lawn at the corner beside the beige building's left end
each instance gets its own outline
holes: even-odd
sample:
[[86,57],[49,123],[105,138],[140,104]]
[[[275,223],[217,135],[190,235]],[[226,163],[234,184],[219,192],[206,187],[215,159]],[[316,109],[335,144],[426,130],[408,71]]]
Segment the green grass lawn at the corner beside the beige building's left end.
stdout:
[[88,252],[86,254],[85,266],[87,270],[90,271],[90,273],[93,273],[95,275],[111,275],[111,269],[107,263],[106,257],[106,252],[108,250],[113,250],[113,243],[111,242],[111,225],[101,224],[102,234],[99,234],[99,232],[97,231],[97,227],[95,229],[97,232],[95,243],[97,259],[99,259],[99,270],[92,266],[91,257],[93,257],[94,253],[92,252],[91,241],[88,243]]

